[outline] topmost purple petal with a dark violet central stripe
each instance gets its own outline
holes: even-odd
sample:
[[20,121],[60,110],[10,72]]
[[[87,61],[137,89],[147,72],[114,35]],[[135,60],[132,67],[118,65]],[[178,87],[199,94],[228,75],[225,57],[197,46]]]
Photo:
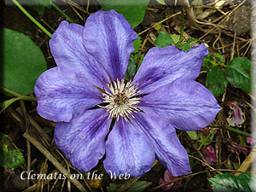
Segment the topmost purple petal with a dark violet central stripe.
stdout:
[[84,46],[108,71],[111,79],[125,76],[128,60],[137,39],[130,23],[114,10],[90,15],[84,26]]

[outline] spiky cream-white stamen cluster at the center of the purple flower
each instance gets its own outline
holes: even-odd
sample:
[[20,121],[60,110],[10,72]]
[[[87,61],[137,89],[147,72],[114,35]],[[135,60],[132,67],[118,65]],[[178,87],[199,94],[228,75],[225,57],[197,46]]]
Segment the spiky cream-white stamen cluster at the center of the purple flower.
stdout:
[[116,118],[119,120],[119,117],[125,119],[126,122],[129,121],[129,118],[134,116],[133,112],[137,113],[139,108],[137,104],[140,102],[141,97],[134,97],[138,90],[137,84],[131,85],[131,80],[125,83],[125,79],[119,81],[119,79],[110,84],[108,84],[108,91],[102,92],[103,102],[108,103],[107,106],[102,108],[107,108],[109,113],[108,119]]

